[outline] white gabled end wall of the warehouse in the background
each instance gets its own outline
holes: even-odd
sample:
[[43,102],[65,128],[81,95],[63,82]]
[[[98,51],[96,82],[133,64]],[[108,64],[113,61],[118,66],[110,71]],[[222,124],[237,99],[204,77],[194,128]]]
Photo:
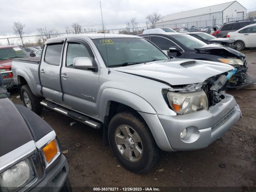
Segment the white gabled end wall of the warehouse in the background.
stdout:
[[[244,12],[244,18],[242,18],[242,16],[240,16],[238,12]],[[241,4],[239,4],[236,1],[223,11],[224,23],[228,21],[236,21],[243,19],[246,19],[246,8],[244,8]]]

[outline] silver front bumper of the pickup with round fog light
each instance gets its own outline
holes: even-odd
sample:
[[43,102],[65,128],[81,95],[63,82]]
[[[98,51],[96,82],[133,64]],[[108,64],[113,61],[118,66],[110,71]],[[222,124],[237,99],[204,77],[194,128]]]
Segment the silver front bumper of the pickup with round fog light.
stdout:
[[[234,97],[228,94],[224,96],[221,102],[208,110],[176,116],[158,115],[173,150],[205,148],[242,117]],[[180,133],[184,128],[187,128],[187,134],[181,139]]]

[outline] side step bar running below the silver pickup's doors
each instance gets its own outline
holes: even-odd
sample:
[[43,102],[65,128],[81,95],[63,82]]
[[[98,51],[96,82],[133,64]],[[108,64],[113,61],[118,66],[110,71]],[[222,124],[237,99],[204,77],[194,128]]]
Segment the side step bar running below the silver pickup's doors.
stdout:
[[73,118],[74,120],[77,120],[77,121],[79,121],[79,122],[81,122],[83,124],[86,124],[86,125],[94,128],[94,129],[101,129],[102,128],[102,124],[101,123],[96,122],[94,120],[91,120],[87,116],[81,115],[81,114],[79,114],[77,112],[73,112],[71,110],[66,110],[63,107],[58,106],[56,104],[53,104],[51,102],[48,102],[46,100],[41,101],[40,104],[42,106],[50,108],[51,110],[59,112],[59,113],[61,113],[63,115],[66,115],[66,116],[68,116],[70,118]]

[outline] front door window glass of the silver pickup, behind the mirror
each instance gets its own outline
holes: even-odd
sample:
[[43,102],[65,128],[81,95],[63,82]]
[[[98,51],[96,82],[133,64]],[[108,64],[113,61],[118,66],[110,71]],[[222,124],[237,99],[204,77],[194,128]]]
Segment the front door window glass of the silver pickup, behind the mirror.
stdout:
[[74,58],[76,57],[88,57],[92,60],[92,56],[90,56],[88,48],[80,43],[69,42],[66,57],[66,66],[72,67]]

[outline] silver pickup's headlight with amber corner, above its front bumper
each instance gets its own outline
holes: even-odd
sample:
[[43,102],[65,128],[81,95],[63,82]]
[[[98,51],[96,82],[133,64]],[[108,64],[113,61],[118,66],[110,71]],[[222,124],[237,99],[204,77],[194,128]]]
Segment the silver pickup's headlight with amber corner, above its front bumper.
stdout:
[[168,92],[167,96],[171,108],[178,114],[208,109],[208,98],[202,90],[188,93]]

